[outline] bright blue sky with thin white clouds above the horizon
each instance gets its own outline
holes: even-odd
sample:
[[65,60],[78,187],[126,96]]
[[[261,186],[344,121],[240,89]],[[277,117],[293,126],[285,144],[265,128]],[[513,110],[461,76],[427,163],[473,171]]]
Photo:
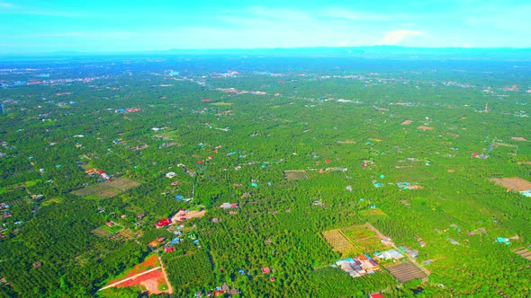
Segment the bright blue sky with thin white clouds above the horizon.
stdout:
[[531,48],[531,2],[0,0],[0,54],[170,48]]

